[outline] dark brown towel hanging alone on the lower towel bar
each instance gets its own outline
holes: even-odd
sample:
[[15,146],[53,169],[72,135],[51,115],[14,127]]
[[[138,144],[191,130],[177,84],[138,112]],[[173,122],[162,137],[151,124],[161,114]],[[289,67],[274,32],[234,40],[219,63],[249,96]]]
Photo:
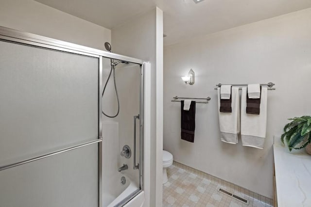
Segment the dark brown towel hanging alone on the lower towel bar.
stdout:
[[191,101],[189,111],[184,110],[184,101],[181,101],[181,139],[194,142],[195,129],[195,101]]

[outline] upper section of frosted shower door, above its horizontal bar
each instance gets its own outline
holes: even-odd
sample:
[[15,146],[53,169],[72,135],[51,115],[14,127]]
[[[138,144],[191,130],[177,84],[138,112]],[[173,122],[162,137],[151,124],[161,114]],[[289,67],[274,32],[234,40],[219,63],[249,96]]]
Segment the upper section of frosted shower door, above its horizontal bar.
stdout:
[[0,165],[98,139],[98,68],[98,58],[0,41]]

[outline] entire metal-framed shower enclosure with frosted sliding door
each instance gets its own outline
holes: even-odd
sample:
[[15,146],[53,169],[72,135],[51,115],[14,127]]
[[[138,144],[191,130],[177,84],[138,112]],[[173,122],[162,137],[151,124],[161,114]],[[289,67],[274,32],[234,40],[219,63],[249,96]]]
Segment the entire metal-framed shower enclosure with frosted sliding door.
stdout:
[[[113,119],[111,59],[128,63]],[[0,27],[0,206],[114,207],[141,193],[143,72],[135,58]]]

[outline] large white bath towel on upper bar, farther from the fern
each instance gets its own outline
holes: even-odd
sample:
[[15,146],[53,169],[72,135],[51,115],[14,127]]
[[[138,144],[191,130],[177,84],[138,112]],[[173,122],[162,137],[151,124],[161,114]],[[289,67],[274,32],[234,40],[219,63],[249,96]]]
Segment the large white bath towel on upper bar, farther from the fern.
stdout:
[[232,87],[231,113],[220,112],[220,88],[218,90],[218,115],[220,127],[220,139],[225,143],[238,143],[240,133],[240,95],[239,88]]

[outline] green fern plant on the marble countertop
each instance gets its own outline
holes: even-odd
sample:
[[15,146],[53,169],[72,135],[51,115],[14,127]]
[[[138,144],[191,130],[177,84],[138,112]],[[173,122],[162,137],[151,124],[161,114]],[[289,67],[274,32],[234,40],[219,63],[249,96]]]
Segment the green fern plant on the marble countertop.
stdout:
[[288,120],[281,136],[282,143],[286,142],[290,151],[301,149],[311,143],[311,116],[294,117]]

